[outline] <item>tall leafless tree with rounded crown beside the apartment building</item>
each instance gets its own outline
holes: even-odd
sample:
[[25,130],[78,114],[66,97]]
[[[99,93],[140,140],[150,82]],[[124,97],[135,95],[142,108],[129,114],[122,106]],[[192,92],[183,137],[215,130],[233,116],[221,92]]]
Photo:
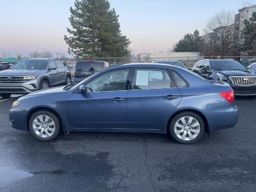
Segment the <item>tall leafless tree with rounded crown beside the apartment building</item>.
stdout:
[[225,56],[234,48],[234,18],[230,11],[221,10],[210,17],[203,31],[213,32],[212,54]]

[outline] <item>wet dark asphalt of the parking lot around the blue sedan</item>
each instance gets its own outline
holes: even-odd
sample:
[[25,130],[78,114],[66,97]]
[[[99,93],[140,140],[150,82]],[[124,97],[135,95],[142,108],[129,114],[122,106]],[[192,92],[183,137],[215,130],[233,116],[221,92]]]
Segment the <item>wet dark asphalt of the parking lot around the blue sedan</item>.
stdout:
[[182,145],[164,134],[103,132],[41,142],[10,126],[17,98],[0,98],[1,192],[256,191],[256,99],[236,97],[234,128]]

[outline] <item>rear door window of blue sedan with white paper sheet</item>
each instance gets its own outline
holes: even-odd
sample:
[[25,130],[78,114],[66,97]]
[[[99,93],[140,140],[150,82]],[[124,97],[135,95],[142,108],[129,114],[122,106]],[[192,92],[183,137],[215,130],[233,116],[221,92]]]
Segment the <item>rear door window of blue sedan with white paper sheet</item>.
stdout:
[[136,69],[134,90],[170,88],[171,79],[166,70]]

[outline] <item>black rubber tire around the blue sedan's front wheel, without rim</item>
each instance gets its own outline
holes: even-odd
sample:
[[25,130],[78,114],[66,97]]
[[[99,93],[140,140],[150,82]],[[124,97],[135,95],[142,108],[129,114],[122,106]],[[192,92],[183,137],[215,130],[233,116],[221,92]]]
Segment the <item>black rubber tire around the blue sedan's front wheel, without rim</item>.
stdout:
[[[37,117],[37,116],[40,116],[40,115],[47,115],[49,116],[50,118],[52,118],[52,120],[54,121],[54,124],[55,124],[55,131],[54,133],[49,136],[49,137],[40,137],[36,134],[36,132],[34,132],[33,130],[33,121],[34,119]],[[44,118],[45,120],[45,118]],[[40,110],[40,111],[37,111],[35,112],[34,114],[32,114],[32,116],[30,117],[29,119],[29,122],[28,122],[28,126],[29,126],[29,130],[30,130],[30,133],[38,140],[40,141],[51,141],[53,139],[56,138],[56,136],[58,136],[59,132],[60,132],[60,126],[61,126],[61,121],[60,119],[58,118],[58,116],[56,116],[56,114],[54,114],[53,112],[51,111],[48,111],[48,110]],[[50,127],[50,126],[49,126]],[[42,130],[40,130],[42,131]],[[45,133],[45,131],[44,131]]]

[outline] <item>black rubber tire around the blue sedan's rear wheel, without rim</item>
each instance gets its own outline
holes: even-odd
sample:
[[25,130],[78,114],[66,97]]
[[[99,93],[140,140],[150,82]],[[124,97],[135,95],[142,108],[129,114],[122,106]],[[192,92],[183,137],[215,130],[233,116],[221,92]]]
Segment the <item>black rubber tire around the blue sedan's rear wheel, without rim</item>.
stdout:
[[[182,140],[181,138],[179,138],[176,134],[175,134],[175,132],[174,132],[174,126],[175,126],[175,124],[176,124],[176,122],[180,119],[180,118],[182,118],[182,117],[187,117],[187,116],[190,116],[190,117],[192,117],[192,118],[195,118],[197,121],[198,121],[198,123],[199,123],[199,125],[200,125],[200,132],[199,132],[199,134],[194,138],[194,139],[192,139],[192,140]],[[194,122],[194,121],[193,121]],[[186,122],[187,123],[187,122]],[[204,121],[202,120],[202,118],[198,115],[198,114],[196,114],[196,113],[194,113],[194,112],[181,112],[181,113],[179,113],[179,114],[177,114],[176,116],[174,116],[174,118],[172,118],[172,120],[171,120],[171,122],[170,122],[170,129],[169,129],[169,131],[170,131],[170,135],[172,136],[172,138],[176,141],[176,142],[178,142],[178,143],[180,143],[180,144],[193,144],[193,143],[195,143],[195,142],[198,142],[201,138],[202,138],[202,136],[203,136],[203,134],[204,134]],[[185,128],[187,128],[187,127],[185,127]],[[181,128],[182,129],[182,128]],[[180,129],[180,130],[181,130]],[[192,128],[189,128],[189,131],[191,130]],[[186,131],[186,130],[185,130]],[[186,133],[186,132],[181,132],[180,134],[184,134],[184,133]],[[191,133],[191,132],[190,132]],[[192,132],[193,133],[193,135],[194,135],[194,132]],[[191,134],[192,134],[191,133]],[[180,135],[181,136],[181,135]],[[188,137],[188,133],[186,133],[186,136],[185,137]]]

